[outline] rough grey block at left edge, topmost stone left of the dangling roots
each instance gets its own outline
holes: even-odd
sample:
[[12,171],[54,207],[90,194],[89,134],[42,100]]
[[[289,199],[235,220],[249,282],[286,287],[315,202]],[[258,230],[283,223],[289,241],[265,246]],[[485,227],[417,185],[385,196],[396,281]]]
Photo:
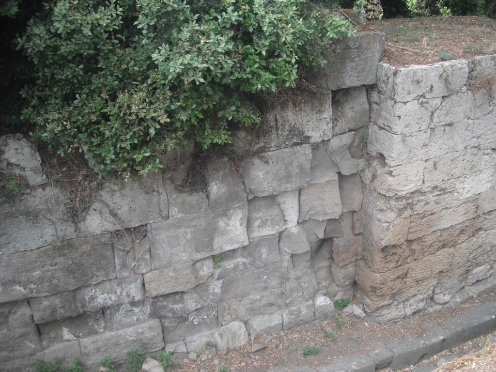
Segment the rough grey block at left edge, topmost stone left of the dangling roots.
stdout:
[[36,146],[23,138],[22,134],[1,136],[0,149],[0,168],[3,171],[26,179],[33,186],[48,182]]

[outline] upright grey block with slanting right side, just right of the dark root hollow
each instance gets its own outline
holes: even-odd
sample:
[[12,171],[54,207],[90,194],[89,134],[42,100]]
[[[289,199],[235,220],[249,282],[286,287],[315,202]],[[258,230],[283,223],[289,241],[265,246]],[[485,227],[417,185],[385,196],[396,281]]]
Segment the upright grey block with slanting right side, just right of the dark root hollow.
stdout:
[[227,207],[246,202],[241,175],[228,158],[208,159],[206,164],[207,194],[210,208]]

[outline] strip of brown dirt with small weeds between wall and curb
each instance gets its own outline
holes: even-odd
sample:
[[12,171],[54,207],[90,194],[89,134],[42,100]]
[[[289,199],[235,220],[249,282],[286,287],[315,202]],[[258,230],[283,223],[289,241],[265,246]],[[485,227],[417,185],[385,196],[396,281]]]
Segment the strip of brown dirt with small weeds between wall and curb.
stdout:
[[[407,335],[422,336],[430,329],[430,323],[466,313],[490,301],[496,301],[496,294],[473,299],[456,308],[421,311],[396,323],[375,323],[371,319],[348,318],[336,313],[328,319],[272,334],[268,347],[256,353],[251,353],[250,345],[247,344],[225,356],[218,351],[215,353],[213,348],[206,348],[196,353],[198,358],[194,362],[188,360],[185,354],[176,354],[173,360],[180,362],[181,367],[174,371],[218,372],[222,366],[231,372],[270,371],[285,365],[318,367],[333,363],[336,356],[368,353],[372,341],[380,340],[387,344]],[[452,352],[465,355],[473,348],[484,346],[486,338],[480,337]],[[305,348],[313,347],[316,347],[312,349],[315,354],[305,357]],[[201,361],[201,356],[205,361]]]

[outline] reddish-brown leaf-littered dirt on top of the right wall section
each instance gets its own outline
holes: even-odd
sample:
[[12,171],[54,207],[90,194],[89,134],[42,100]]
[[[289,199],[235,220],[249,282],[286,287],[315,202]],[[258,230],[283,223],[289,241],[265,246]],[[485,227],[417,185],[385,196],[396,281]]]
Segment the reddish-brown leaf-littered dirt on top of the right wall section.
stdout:
[[402,67],[496,54],[496,19],[418,17],[370,21],[359,30],[386,36],[382,62]]

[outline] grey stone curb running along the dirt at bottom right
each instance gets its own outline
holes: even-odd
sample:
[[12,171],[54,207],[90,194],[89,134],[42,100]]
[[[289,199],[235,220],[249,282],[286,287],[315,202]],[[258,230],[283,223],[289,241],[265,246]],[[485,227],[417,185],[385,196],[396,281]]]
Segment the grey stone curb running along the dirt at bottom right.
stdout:
[[[496,330],[496,301],[471,309],[441,322],[441,326],[428,324],[430,329],[423,337],[410,337],[384,345],[374,342],[374,350],[367,355],[347,355],[331,365],[305,368],[291,366],[274,372],[374,372],[382,368],[400,370],[420,362],[422,359],[450,349],[468,340]],[[414,371],[430,371],[430,367]],[[435,366],[434,366],[435,367]]]

